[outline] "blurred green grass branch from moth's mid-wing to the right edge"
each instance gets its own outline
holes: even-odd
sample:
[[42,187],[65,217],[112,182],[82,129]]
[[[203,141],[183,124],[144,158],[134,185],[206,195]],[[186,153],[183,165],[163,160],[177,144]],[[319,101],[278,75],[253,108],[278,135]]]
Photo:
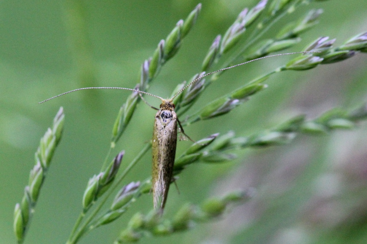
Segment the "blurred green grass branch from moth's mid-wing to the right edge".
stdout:
[[237,158],[234,152],[239,149],[289,144],[300,133],[322,135],[337,129],[353,129],[359,121],[366,118],[366,104],[363,104],[351,112],[335,108],[312,120],[306,120],[305,115],[298,115],[274,129],[258,132],[248,137],[236,137],[233,131],[221,136],[218,133],[213,134],[200,140],[207,144],[199,147],[194,143],[175,160],[174,175],[181,173],[189,164],[200,161],[204,163],[228,162]]

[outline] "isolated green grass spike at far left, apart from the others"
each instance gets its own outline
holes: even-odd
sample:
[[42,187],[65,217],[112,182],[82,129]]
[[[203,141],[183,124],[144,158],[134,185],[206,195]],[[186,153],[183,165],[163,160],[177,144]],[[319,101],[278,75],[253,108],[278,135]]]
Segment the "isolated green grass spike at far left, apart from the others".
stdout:
[[57,112],[52,127],[41,138],[34,154],[35,165],[29,174],[29,183],[24,189],[21,203],[15,204],[14,233],[18,243],[23,243],[44,179],[50,166],[54,151],[61,139],[65,115],[61,107]]

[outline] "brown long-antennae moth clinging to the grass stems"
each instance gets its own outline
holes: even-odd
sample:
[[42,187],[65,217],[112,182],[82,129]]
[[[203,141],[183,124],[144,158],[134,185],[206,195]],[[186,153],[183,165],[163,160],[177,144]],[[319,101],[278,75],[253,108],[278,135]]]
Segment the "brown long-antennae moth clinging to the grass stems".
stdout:
[[[51,97],[40,103],[44,103],[48,100],[54,99],[56,97],[65,95],[70,92],[75,92],[77,90],[86,90],[86,89],[122,89],[122,90],[131,90],[134,92],[139,92],[140,94],[146,94],[149,96],[157,97],[161,99],[160,108],[156,108],[158,112],[155,115],[154,129],[153,129],[153,139],[152,139],[152,192],[153,192],[153,206],[157,211],[163,212],[164,206],[166,205],[168,190],[170,189],[170,184],[173,180],[173,167],[175,162],[175,154],[176,154],[176,145],[177,145],[177,125],[181,127],[181,132],[185,134],[181,123],[177,118],[177,114],[175,113],[175,105],[173,104],[173,99],[179,95],[183,90],[188,88],[194,82],[201,80],[203,77],[207,75],[211,75],[220,71],[232,69],[234,67],[253,62],[255,60],[280,56],[280,55],[290,55],[296,53],[308,53],[308,52],[293,52],[293,53],[281,53],[276,55],[265,56],[257,59],[253,59],[244,63],[236,64],[234,66],[226,67],[224,69],[220,69],[217,71],[213,71],[207,74],[204,74],[184,88],[182,88],[178,93],[176,93],[170,99],[163,99],[162,97],[150,94],[148,92],[143,92],[141,90],[129,89],[129,88],[121,88],[121,87],[86,87],[79,88],[75,90],[70,90],[68,92],[59,94],[57,96]],[[141,96],[141,99],[143,97]],[[148,104],[149,105],[149,104]],[[152,106],[150,106],[152,107]],[[152,107],[154,108],[154,107]],[[186,135],[187,136],[187,135]],[[187,136],[188,137],[188,136]],[[190,138],[190,137],[188,137]]]

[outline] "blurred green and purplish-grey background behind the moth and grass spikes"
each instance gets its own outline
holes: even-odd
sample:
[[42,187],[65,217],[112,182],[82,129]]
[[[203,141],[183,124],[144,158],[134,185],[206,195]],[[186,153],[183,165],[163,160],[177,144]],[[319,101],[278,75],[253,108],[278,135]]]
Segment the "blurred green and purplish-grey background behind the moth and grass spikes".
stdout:
[[[179,53],[161,70],[149,92],[168,97],[174,87],[200,71],[217,34],[223,34],[252,0],[201,1],[197,23]],[[33,167],[39,138],[60,106],[65,129],[25,243],[65,243],[81,210],[88,179],[98,173],[109,148],[111,130],[129,92],[77,92],[45,104],[37,102],[86,86],[133,88],[143,60],[175,23],[199,3],[193,0],[83,1],[82,18],[72,19],[72,1],[0,2],[0,242],[15,243],[15,203],[21,200]],[[367,30],[367,1],[329,0],[299,8],[298,19],[323,8],[320,23],[301,35],[299,51],[320,36],[336,45]],[[71,14],[71,15],[70,15]],[[287,23],[277,23],[271,37]],[[191,111],[290,60],[259,61],[226,72],[200,97]],[[217,66],[219,68],[220,65]],[[237,136],[270,129],[301,113],[315,118],[333,107],[351,110],[367,95],[367,56],[302,72],[272,76],[269,88],[228,115],[185,128],[194,140],[234,130]],[[147,97],[158,106],[159,101]],[[126,150],[124,167],[150,140],[155,111],[143,103],[117,144]],[[191,114],[190,112],[188,114]],[[179,155],[190,142],[178,142]],[[200,203],[233,189],[254,187],[258,195],[233,208],[223,219],[170,237],[143,238],[141,243],[367,243],[367,124],[327,136],[299,136],[291,145],[250,149],[226,164],[195,164],[180,175],[181,194],[172,188],[166,216],[183,203]],[[126,179],[150,174],[150,153]],[[112,243],[137,211],[152,208],[151,195],[139,198],[122,218],[88,234],[80,243]]]

